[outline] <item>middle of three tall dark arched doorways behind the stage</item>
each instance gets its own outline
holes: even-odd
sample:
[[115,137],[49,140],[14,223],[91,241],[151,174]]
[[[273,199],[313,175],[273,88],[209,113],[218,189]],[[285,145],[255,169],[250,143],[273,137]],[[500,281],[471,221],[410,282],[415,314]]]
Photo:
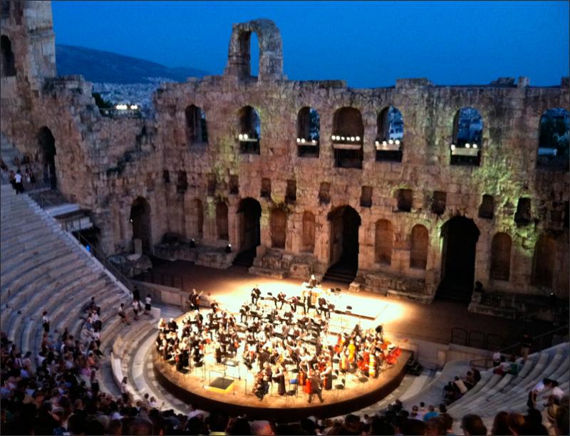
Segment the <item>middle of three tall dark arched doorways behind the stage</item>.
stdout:
[[331,222],[330,268],[325,279],[350,283],[358,271],[358,227],[362,220],[350,206],[341,206],[328,214]]

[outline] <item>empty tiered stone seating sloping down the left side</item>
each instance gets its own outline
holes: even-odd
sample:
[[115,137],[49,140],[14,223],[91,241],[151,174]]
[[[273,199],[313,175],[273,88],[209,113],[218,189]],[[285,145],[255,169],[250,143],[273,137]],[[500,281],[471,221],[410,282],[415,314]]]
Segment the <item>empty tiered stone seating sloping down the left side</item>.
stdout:
[[2,329],[22,351],[36,354],[41,344],[41,316],[48,311],[51,336],[68,327],[81,337],[81,308],[95,296],[101,306],[103,338],[113,340],[119,301],[130,293],[105,271],[53,218],[26,194],[1,187],[1,316]]

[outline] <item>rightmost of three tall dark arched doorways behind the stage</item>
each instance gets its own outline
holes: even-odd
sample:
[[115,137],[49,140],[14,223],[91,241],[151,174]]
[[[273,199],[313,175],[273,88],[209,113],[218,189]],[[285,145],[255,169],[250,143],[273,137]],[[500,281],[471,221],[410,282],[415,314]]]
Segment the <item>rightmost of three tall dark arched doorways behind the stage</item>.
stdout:
[[437,296],[470,301],[475,280],[475,247],[479,229],[472,219],[453,217],[441,229],[441,282]]

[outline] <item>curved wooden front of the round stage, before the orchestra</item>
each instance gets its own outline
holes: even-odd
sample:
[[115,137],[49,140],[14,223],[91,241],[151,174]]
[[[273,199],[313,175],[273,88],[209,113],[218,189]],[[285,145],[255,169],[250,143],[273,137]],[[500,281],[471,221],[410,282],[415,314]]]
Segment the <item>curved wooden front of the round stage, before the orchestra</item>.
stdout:
[[[403,350],[398,363],[383,370],[378,378],[368,379],[366,383],[361,383],[357,374],[339,374],[333,380],[333,389],[323,390],[322,404],[316,396],[313,403],[309,403],[308,395],[301,392],[300,388],[296,395],[281,397],[276,392],[276,386],[260,401],[252,393],[253,373],[243,365],[230,367],[207,363],[202,368],[194,368],[192,372],[183,374],[176,370],[175,365],[162,360],[154,349],[152,361],[162,387],[195,408],[224,410],[229,415],[247,414],[254,419],[271,417],[274,420],[291,421],[311,415],[321,418],[346,415],[381,400],[400,385],[410,355],[410,351]],[[346,381],[345,388],[335,389],[343,378]],[[294,390],[294,386],[288,384],[286,390]]]

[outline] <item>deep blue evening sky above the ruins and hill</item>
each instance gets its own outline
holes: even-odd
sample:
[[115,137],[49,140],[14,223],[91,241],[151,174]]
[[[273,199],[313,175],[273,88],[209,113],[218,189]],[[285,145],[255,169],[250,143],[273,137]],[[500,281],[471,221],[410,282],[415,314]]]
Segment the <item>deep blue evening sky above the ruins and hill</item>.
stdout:
[[[56,43],[222,74],[232,23],[268,18],[281,30],[284,71],[294,80],[373,88],[396,78],[467,85],[529,76],[531,85],[559,85],[569,75],[569,4],[53,1],[53,26]],[[257,63],[257,48],[252,57]]]

